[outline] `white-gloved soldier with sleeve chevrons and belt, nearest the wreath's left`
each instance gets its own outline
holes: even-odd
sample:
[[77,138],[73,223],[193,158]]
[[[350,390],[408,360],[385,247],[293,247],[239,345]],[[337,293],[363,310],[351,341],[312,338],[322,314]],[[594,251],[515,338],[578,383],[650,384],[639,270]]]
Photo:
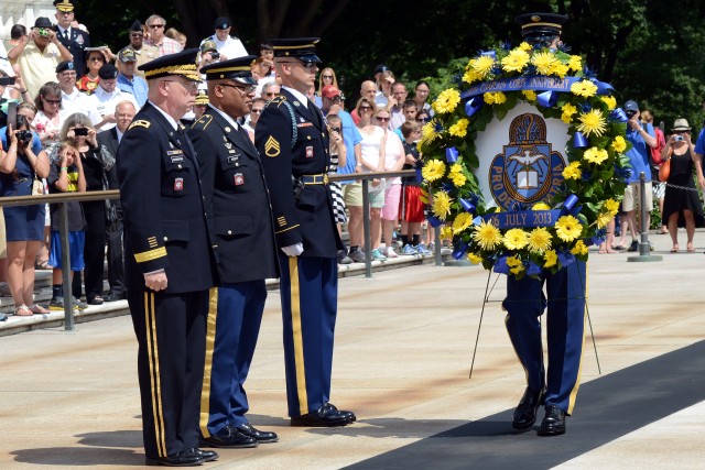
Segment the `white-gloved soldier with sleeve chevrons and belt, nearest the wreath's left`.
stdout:
[[345,426],[351,412],[328,402],[337,314],[337,252],[343,248],[328,188],[328,130],[306,98],[318,39],[271,40],[281,95],[269,101],[254,131],[271,192],[280,248],[286,395],[293,426]]

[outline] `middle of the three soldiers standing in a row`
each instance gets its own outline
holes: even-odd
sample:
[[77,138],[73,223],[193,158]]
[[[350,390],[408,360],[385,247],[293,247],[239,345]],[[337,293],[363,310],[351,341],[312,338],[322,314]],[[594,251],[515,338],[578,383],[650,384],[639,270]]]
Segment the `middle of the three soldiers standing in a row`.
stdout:
[[209,105],[188,131],[200,161],[219,278],[210,295],[200,411],[204,440],[214,447],[254,447],[278,440],[276,434],[254,428],[245,417],[249,405],[243,385],[267,299],[264,280],[279,276],[262,162],[237,123],[252,108],[257,80],[250,64],[256,58],[200,68]]

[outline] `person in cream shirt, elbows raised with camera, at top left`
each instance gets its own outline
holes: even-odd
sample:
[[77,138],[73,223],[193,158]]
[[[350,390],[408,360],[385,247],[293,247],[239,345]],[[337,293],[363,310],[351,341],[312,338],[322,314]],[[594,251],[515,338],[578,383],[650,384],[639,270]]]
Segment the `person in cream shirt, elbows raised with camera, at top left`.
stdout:
[[73,61],[73,55],[56,37],[52,22],[40,17],[28,36],[8,52],[10,62],[17,61],[30,96],[36,96],[47,81],[55,79],[54,70],[62,61]]

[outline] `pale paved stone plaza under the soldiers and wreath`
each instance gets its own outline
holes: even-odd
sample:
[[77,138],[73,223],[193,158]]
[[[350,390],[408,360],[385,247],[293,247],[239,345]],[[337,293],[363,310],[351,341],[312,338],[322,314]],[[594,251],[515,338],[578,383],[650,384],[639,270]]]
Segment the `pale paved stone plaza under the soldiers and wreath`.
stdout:
[[[340,280],[332,402],[359,419],[340,429],[289,426],[271,292],[247,390],[250,420],[280,441],[220,449],[203,468],[703,468],[705,232],[697,253],[669,253],[668,236],[651,240],[660,262],[590,255],[601,375],[588,337],[566,435],[511,429],[524,375],[503,328],[503,277],[489,278],[468,380],[488,273],[424,264]],[[128,316],[2,337],[0,354],[0,468],[143,464]]]

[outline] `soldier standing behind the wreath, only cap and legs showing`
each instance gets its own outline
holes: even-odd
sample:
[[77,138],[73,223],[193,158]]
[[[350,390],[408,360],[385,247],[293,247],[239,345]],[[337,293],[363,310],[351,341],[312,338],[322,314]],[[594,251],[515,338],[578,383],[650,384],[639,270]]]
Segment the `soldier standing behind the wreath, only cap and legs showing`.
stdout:
[[[567,17],[552,13],[527,13],[517,17],[525,42],[555,48],[561,26]],[[546,284],[546,297],[543,284]],[[565,416],[573,412],[581,380],[581,358],[585,328],[585,262],[575,260],[557,273],[542,273],[538,278],[507,278],[507,331],[527,372],[527,389],[514,411],[512,427],[529,429],[536,420],[540,405],[545,416],[539,436],[565,433]],[[547,376],[543,363],[541,323],[547,307]]]

